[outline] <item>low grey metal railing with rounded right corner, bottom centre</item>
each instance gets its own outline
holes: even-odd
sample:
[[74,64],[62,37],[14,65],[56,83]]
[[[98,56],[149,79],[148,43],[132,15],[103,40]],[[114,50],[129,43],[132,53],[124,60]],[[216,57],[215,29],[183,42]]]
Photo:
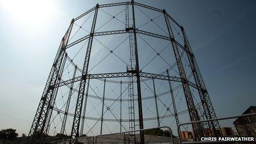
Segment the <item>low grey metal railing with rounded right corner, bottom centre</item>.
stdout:
[[[141,130],[134,130],[134,131],[124,131],[124,132],[116,132],[116,133],[113,133],[113,134],[104,134],[104,135],[98,135],[98,136],[90,136],[93,138],[93,142],[92,143],[97,143],[97,138],[100,137],[100,136],[109,136],[109,135],[116,135],[116,134],[123,134],[124,135],[124,143],[126,143],[126,140],[125,140],[125,133],[130,133],[130,132],[137,132],[137,131],[145,131],[145,130],[153,130],[153,129],[161,129],[161,128],[167,128],[170,130],[170,141],[171,143],[174,143],[174,139],[173,139],[173,132],[172,132],[172,129],[170,129],[169,126],[160,126],[160,127],[154,127],[154,128],[150,128],[150,129],[141,129]],[[65,139],[65,140],[59,140],[59,141],[54,141],[54,142],[50,142],[50,143],[60,143],[60,142],[68,142],[68,141],[73,141],[73,140],[78,140],[78,139],[81,139],[81,138],[90,138],[90,137],[76,137],[76,138],[69,138],[69,139]],[[95,140],[95,142],[94,142]]]

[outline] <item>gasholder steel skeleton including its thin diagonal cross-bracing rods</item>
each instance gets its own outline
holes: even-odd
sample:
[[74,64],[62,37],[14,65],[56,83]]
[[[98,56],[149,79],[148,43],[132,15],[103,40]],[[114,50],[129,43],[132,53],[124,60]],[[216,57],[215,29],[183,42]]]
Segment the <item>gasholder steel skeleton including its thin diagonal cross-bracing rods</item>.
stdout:
[[[103,10],[103,8],[109,8],[109,7],[125,7],[125,26],[122,29],[119,30],[107,30],[107,31],[97,31],[95,30],[95,25],[97,23],[98,19],[98,10]],[[140,26],[136,27],[136,17],[135,17],[135,8],[140,10],[142,14],[145,14],[143,10],[140,8],[145,8],[147,10],[151,10],[152,12],[159,13],[160,16],[163,16],[163,22],[161,24],[165,25],[165,29],[163,30],[164,35],[151,33],[147,30],[141,30]],[[123,12],[123,11],[121,11]],[[121,13],[120,12],[120,13]],[[107,12],[105,12],[107,13]],[[119,14],[119,13],[118,13]],[[112,19],[118,19],[117,15],[111,15]],[[82,19],[83,17],[86,17],[87,15],[93,15],[92,20],[92,26],[90,28],[89,34],[86,36],[83,36],[82,38],[75,40],[71,42],[70,40],[73,38],[71,36],[73,26],[78,26],[79,29],[83,29],[81,25],[76,24],[78,20]],[[154,19],[156,18],[150,18],[150,15],[145,14],[150,20],[149,22],[153,22],[156,24],[156,26],[160,27],[156,22],[154,22]],[[99,15],[100,16],[100,15]],[[118,19],[119,20],[119,19]],[[119,20],[121,21],[121,20]],[[136,21],[136,22],[135,22]],[[106,22],[108,23],[108,22]],[[105,24],[104,24],[105,25]],[[79,30],[78,29],[78,30]],[[178,29],[178,30],[177,30]],[[177,31],[177,33],[175,31]],[[174,34],[175,33],[175,34]],[[93,40],[97,40],[97,36],[103,36],[103,35],[121,35],[126,34],[129,35],[129,48],[130,53],[127,54],[130,56],[129,62],[125,62],[115,54],[115,49],[109,49],[107,46],[106,49],[109,50],[109,54],[114,54],[116,57],[118,57],[120,60],[122,60],[124,63],[126,63],[126,70],[121,72],[110,72],[110,73],[89,73],[89,61],[91,51],[92,51],[92,45]],[[74,33],[76,35],[76,32]],[[140,35],[146,35],[150,36],[151,38],[157,38],[161,40],[166,40],[169,42],[169,44],[172,45],[172,52],[174,57],[174,65],[170,66],[169,63],[164,60],[163,56],[160,50],[154,50],[150,44],[147,45],[151,47],[151,49],[156,52],[156,57],[160,57],[168,63],[168,67],[162,72],[162,73],[149,73],[149,72],[142,72],[142,68],[139,67],[139,58],[138,58],[138,42],[137,42],[137,36]],[[180,36],[180,40],[178,40]],[[140,38],[145,41],[141,36]],[[67,49],[71,49],[71,47],[81,44],[82,41],[88,42],[86,53],[84,54],[84,63],[82,67],[78,67],[76,63],[74,63],[73,58],[70,58],[67,52]],[[98,41],[98,40],[97,40]],[[146,41],[145,41],[146,42]],[[100,44],[102,44],[100,42]],[[103,45],[103,44],[102,44]],[[119,45],[118,45],[119,46]],[[167,47],[170,47],[167,45]],[[171,53],[171,52],[170,52]],[[170,59],[170,57],[168,57]],[[162,60],[161,59],[161,60]],[[103,60],[102,60],[103,61]],[[152,61],[152,60],[151,60]],[[150,61],[150,62],[151,62]],[[71,64],[73,66],[73,76],[70,79],[62,79],[65,74],[63,74],[63,71],[66,70],[66,63],[68,65]],[[101,61],[100,61],[101,62]],[[149,63],[150,63],[149,62]],[[184,64],[186,62],[186,64]],[[130,64],[129,64],[130,63]],[[98,63],[97,63],[98,65]],[[95,66],[97,66],[95,65]],[[147,64],[148,65],[148,64]],[[146,65],[146,66],[147,66]],[[175,68],[174,68],[175,67]],[[94,67],[93,67],[94,68]],[[92,68],[92,69],[93,69]],[[144,67],[143,67],[144,68]],[[91,70],[92,70],[91,69]],[[178,76],[171,76],[172,74],[169,74],[169,71],[175,71],[177,72]],[[189,73],[189,72],[190,73]],[[79,76],[77,76],[77,73],[79,73]],[[70,72],[68,72],[70,74]],[[128,81],[116,81],[114,78],[128,78]],[[111,80],[109,80],[112,78]],[[90,81],[93,79],[98,79],[99,81],[103,82],[103,96],[99,97],[99,95],[90,95],[88,94],[88,90],[91,88],[92,84]],[[170,115],[159,115],[158,112],[158,103],[161,102],[161,99],[159,99],[161,94],[157,94],[155,81],[161,79],[161,81],[168,82],[167,87],[169,90],[164,94],[170,94],[170,98],[172,99],[172,107],[173,107],[173,113],[170,111],[170,106],[167,107],[166,104],[163,104],[166,106],[167,112],[169,111]],[[152,81],[153,87],[150,87],[147,85],[146,81]],[[194,82],[192,82],[194,81]],[[78,82],[78,88],[74,87],[74,83]],[[47,79],[46,86],[44,89],[44,92],[42,93],[42,97],[40,99],[40,103],[38,106],[38,109],[36,110],[35,118],[33,120],[33,124],[31,126],[31,129],[29,131],[29,138],[28,142],[33,143],[35,141],[34,134],[40,134],[39,140],[44,141],[44,135],[49,134],[49,127],[51,125],[54,125],[54,130],[56,131],[55,123],[52,122],[56,118],[57,115],[61,117],[61,130],[60,134],[64,134],[66,132],[66,122],[67,117],[70,116],[73,118],[72,126],[71,126],[71,135],[72,137],[79,137],[83,135],[83,126],[85,120],[95,120],[100,121],[100,134],[103,132],[103,122],[104,121],[118,121],[120,123],[120,131],[122,129],[126,130],[124,127],[124,122],[129,122],[129,130],[135,130],[136,126],[139,126],[139,129],[143,129],[143,121],[146,120],[156,120],[158,126],[161,125],[161,119],[168,118],[171,116],[174,116],[176,124],[180,124],[178,115],[181,114],[181,112],[177,111],[176,104],[175,104],[175,95],[174,95],[174,89],[172,87],[171,82],[178,82],[180,83],[180,88],[183,89],[183,94],[185,98],[185,102],[187,105],[187,110],[184,112],[188,112],[190,121],[198,121],[201,119],[215,119],[216,114],[214,111],[214,108],[212,106],[209,94],[206,90],[205,83],[202,79],[201,73],[199,71],[198,64],[196,63],[195,56],[193,54],[193,51],[190,47],[188,38],[185,34],[183,26],[179,25],[164,9],[158,9],[150,6],[146,6],[145,4],[137,3],[134,1],[131,2],[121,2],[121,3],[111,3],[111,4],[97,4],[94,8],[88,10],[87,12],[83,13],[77,18],[72,19],[71,24],[66,32],[66,34],[63,36],[61,40],[60,47],[58,48],[57,55],[54,60],[54,64],[52,65],[49,78]],[[117,83],[120,84],[120,95],[118,98],[106,98],[106,87],[108,83]],[[142,98],[142,92],[141,92],[141,83],[145,83],[149,89],[151,89],[153,96],[152,97],[145,97]],[[124,98],[124,88],[122,89],[122,86],[124,84],[127,84],[127,91],[128,91],[128,99]],[[161,83],[162,84],[162,83]],[[65,95],[67,97],[66,103],[63,104],[62,108],[65,108],[65,111],[57,108],[56,104],[56,95],[59,93],[60,87],[68,87],[70,90]],[[97,88],[97,87],[96,87]],[[191,89],[196,89],[198,94],[198,99],[200,101],[199,104],[195,104],[195,93],[193,94]],[[74,106],[74,112],[70,112],[70,103],[73,93],[76,92],[76,105]],[[94,92],[95,93],[95,92]],[[63,95],[62,95],[63,98]],[[87,99],[88,98],[94,98],[99,99],[102,101],[102,113],[100,118],[95,117],[88,117],[86,115],[86,109],[87,109]],[[143,119],[143,111],[142,111],[142,100],[146,99],[154,99],[154,104],[156,107],[156,117],[152,118],[146,118]],[[106,105],[106,101],[113,101],[120,102],[120,118],[117,118],[116,115],[112,112],[113,109],[110,108],[110,106]],[[137,105],[134,103],[137,101]],[[128,111],[129,111],[129,119],[123,119],[122,118],[122,110],[124,109],[122,107],[122,104],[124,102],[128,102]],[[64,102],[63,102],[64,103]],[[201,107],[201,109],[199,109]],[[114,115],[114,119],[105,119],[104,118],[104,108],[106,111],[109,111]],[[137,111],[135,111],[135,108],[137,108]],[[199,110],[202,110],[199,112]],[[57,114],[54,118],[52,118],[52,111],[56,111]],[[138,119],[136,119],[136,113],[138,116]],[[201,115],[199,115],[201,113]],[[52,119],[52,120],[51,120]],[[96,122],[96,123],[97,123]],[[136,123],[138,122],[138,124]],[[60,122],[58,122],[60,123]],[[199,140],[201,136],[204,135],[218,135],[217,129],[220,128],[218,121],[211,121],[211,122],[203,122],[201,124],[196,123],[192,124],[193,131],[194,131],[194,137]],[[204,129],[208,127],[210,129],[210,134],[206,134]],[[92,126],[93,128],[93,126]],[[80,131],[79,131],[80,130]],[[91,130],[91,129],[90,129]],[[90,131],[89,130],[89,131]],[[57,132],[56,132],[57,133]],[[136,140],[135,133],[130,134],[131,136],[134,136],[134,139]],[[61,135],[60,135],[61,136]],[[143,131],[140,132],[140,141],[144,143],[144,136]]]

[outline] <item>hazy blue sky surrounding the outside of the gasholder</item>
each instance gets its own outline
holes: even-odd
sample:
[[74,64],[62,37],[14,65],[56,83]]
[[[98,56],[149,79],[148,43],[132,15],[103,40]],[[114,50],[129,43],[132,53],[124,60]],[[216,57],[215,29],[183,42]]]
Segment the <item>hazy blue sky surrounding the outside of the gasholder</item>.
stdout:
[[[117,1],[0,1],[0,129],[28,134],[72,18]],[[255,105],[255,1],[136,1],[184,26],[218,117]]]

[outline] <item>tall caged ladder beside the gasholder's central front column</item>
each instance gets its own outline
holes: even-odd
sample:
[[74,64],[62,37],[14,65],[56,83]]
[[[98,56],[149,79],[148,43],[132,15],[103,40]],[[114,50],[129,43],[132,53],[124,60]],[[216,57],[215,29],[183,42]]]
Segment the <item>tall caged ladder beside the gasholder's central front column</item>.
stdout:
[[[125,28],[132,29],[132,19],[129,18],[129,4],[125,8]],[[134,33],[129,33],[130,44],[130,66],[127,66],[127,72],[135,72],[135,47],[134,47]],[[129,97],[129,131],[135,131],[135,112],[134,112],[134,77],[128,78],[128,97]],[[130,132],[130,139],[136,143],[135,132]]]

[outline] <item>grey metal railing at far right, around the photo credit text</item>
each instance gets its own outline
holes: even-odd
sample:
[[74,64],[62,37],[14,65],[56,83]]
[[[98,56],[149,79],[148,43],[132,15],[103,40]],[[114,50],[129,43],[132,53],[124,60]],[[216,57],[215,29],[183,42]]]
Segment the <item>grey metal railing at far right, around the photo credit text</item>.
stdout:
[[[215,120],[226,120],[226,119],[234,119],[234,118],[241,118],[241,117],[247,117],[247,116],[254,116],[256,113],[253,114],[246,114],[246,115],[238,115],[238,116],[230,116],[226,118],[218,118],[218,119],[209,119],[209,120],[199,120],[199,121],[192,121],[192,122],[186,122],[183,124],[179,124],[177,127],[177,130],[180,131],[180,126],[182,125],[189,125],[189,124],[195,124],[200,122],[208,122],[208,121],[215,121]],[[178,134],[179,137],[179,143],[217,143],[218,141],[193,141],[193,142],[182,142],[182,138],[180,137],[180,134]],[[221,143],[230,143],[230,142],[237,142],[237,141],[221,141]]]

